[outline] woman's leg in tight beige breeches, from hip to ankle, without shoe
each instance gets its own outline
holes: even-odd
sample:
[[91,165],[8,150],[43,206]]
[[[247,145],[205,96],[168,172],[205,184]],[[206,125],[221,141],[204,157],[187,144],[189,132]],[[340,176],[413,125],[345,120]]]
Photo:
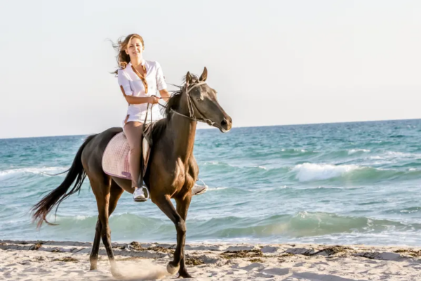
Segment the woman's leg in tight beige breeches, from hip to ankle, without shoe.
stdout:
[[142,123],[140,122],[128,122],[124,125],[124,133],[128,144],[130,145],[130,174],[132,179],[132,188],[138,188],[138,178],[140,173],[140,151],[142,138]]

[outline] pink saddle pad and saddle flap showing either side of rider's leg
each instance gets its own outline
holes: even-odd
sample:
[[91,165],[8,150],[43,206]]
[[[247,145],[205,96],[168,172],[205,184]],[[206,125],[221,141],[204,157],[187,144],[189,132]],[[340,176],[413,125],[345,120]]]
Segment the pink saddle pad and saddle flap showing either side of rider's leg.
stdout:
[[[154,123],[145,124],[142,134],[142,162],[140,163],[140,175],[142,178],[146,174],[149,163],[149,155],[152,148],[152,130]],[[130,164],[130,145],[128,144],[124,132],[117,133],[107,144],[102,155],[102,170],[109,176],[125,178],[131,180]]]

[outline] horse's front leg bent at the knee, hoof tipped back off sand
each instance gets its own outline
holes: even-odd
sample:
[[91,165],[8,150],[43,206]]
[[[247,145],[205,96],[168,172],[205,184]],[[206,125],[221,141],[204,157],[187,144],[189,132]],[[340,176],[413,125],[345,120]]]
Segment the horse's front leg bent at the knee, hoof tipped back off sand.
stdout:
[[186,223],[180,214],[175,211],[173,203],[168,195],[152,197],[152,201],[168,216],[168,218],[171,219],[171,221],[173,221],[175,230],[177,230],[177,248],[174,252],[174,259],[173,261],[170,261],[167,266],[168,273],[174,275],[175,273],[178,273],[178,270],[180,269],[180,261],[182,260],[186,240]]

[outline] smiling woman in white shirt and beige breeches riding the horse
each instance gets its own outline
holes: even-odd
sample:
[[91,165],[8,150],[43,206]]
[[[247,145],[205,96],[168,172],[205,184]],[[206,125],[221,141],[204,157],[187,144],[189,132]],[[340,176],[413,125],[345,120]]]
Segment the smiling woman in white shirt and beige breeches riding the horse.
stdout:
[[[148,114],[148,122],[150,122],[151,116],[152,121],[162,118],[157,103],[162,103],[161,100],[168,100],[170,94],[166,90],[161,65],[158,62],[143,59],[145,44],[140,35],[130,34],[123,41],[118,41],[115,47],[119,51],[117,55],[119,70],[115,73],[123,96],[128,103],[126,119],[123,121],[123,131],[131,148],[129,164],[132,188],[135,189],[133,200],[143,202],[149,198],[149,191],[145,185],[138,188],[137,183],[140,172],[142,125],[145,122],[146,114]],[[155,96],[156,90],[159,91],[161,100]],[[147,110],[148,103],[150,104],[149,110]],[[198,195],[205,192],[206,189],[206,185],[194,185],[192,192],[193,195]]]

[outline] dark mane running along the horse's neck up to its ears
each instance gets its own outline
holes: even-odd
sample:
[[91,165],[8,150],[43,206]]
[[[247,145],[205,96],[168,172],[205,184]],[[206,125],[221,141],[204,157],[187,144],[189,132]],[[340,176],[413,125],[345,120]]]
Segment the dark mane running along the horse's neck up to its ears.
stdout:
[[[192,83],[196,83],[197,81],[199,81],[199,77],[196,74],[191,74],[191,75],[192,75]],[[178,90],[171,91],[171,98],[166,103],[166,110],[165,110],[164,118],[157,121],[154,124],[154,129],[152,131],[152,139],[154,141],[160,138],[163,131],[165,131],[168,122],[171,120],[171,110],[177,109],[180,105],[182,91],[183,89],[185,89],[186,77],[183,77],[182,81],[183,81],[183,84],[181,86],[177,86]],[[157,106],[161,106],[161,105],[157,105]]]

